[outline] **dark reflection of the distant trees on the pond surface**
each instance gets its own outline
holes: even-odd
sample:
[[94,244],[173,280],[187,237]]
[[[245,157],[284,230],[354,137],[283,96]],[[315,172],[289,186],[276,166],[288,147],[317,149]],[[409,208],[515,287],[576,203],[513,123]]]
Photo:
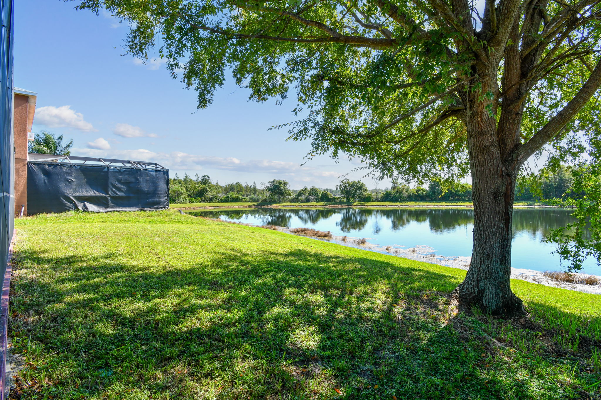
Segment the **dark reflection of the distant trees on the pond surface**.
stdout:
[[[318,222],[335,216],[335,224],[343,232],[364,230],[370,221],[388,219],[391,230],[398,231],[412,222],[427,222],[433,233],[445,233],[462,227],[471,227],[474,224],[474,210],[469,208],[259,208],[238,210],[207,210],[189,212],[192,215],[201,215],[208,218],[226,218],[232,221],[243,221],[245,216],[252,216],[261,224],[281,225],[290,227],[291,220],[296,217],[302,224],[315,225]],[[513,212],[513,233],[527,233],[535,239],[542,239],[549,232],[558,227],[563,227],[574,222],[569,209],[540,209],[525,208],[515,209]],[[374,233],[381,229],[376,223]]]

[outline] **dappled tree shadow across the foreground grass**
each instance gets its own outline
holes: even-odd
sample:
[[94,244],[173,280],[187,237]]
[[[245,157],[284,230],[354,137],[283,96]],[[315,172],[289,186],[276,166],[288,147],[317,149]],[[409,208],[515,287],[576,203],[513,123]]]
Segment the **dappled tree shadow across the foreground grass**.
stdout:
[[24,398],[539,399],[596,379],[558,381],[580,361],[535,330],[453,317],[454,275],[301,249],[225,248],[184,266],[114,258],[17,255],[37,268],[11,298]]

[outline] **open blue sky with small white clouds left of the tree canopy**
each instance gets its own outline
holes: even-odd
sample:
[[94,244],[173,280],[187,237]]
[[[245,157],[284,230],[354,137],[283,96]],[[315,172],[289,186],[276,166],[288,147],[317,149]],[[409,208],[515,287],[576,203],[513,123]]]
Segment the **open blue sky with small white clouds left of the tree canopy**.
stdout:
[[38,93],[33,130],[73,139],[73,155],[154,161],[171,175],[209,174],[221,183],[286,179],[296,189],[334,187],[360,165],[321,157],[301,166],[308,143],[268,131],[295,119],[294,96],[281,106],[258,104],[230,82],[208,109],[197,110],[196,93],[161,62],[123,56],[127,26],[75,4],[16,1],[14,48],[15,86]]

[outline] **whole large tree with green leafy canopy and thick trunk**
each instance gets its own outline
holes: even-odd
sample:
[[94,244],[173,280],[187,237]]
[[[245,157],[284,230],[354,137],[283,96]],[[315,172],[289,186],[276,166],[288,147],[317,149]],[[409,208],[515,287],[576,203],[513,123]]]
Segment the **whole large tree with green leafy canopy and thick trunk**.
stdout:
[[[292,91],[308,157],[356,157],[379,176],[472,177],[474,249],[460,308],[523,313],[511,292],[517,175],[601,149],[601,0],[79,0],[129,22],[207,107],[231,71],[252,100]],[[545,147],[546,146],[546,147]]]

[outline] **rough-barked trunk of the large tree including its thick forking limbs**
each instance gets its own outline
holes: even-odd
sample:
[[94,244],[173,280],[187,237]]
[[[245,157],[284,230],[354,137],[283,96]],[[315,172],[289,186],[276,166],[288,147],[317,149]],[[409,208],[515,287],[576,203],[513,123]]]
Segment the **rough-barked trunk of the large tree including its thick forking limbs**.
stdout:
[[[505,57],[511,62],[505,67],[503,86],[508,89],[502,97],[498,123],[486,109],[486,102],[469,97],[462,99],[465,104],[471,104],[464,121],[474,201],[474,248],[466,278],[456,292],[460,309],[478,306],[484,312],[502,317],[525,314],[522,300],[510,287],[511,219],[517,173],[526,158],[555,137],[601,86],[599,61],[566,107],[528,142],[521,144],[524,103],[520,98],[527,88],[514,84],[519,82],[521,75],[513,47],[508,46],[505,50]],[[489,65],[478,66],[481,68],[477,75],[483,92],[497,94],[498,88],[490,79],[496,75],[487,71]]]

